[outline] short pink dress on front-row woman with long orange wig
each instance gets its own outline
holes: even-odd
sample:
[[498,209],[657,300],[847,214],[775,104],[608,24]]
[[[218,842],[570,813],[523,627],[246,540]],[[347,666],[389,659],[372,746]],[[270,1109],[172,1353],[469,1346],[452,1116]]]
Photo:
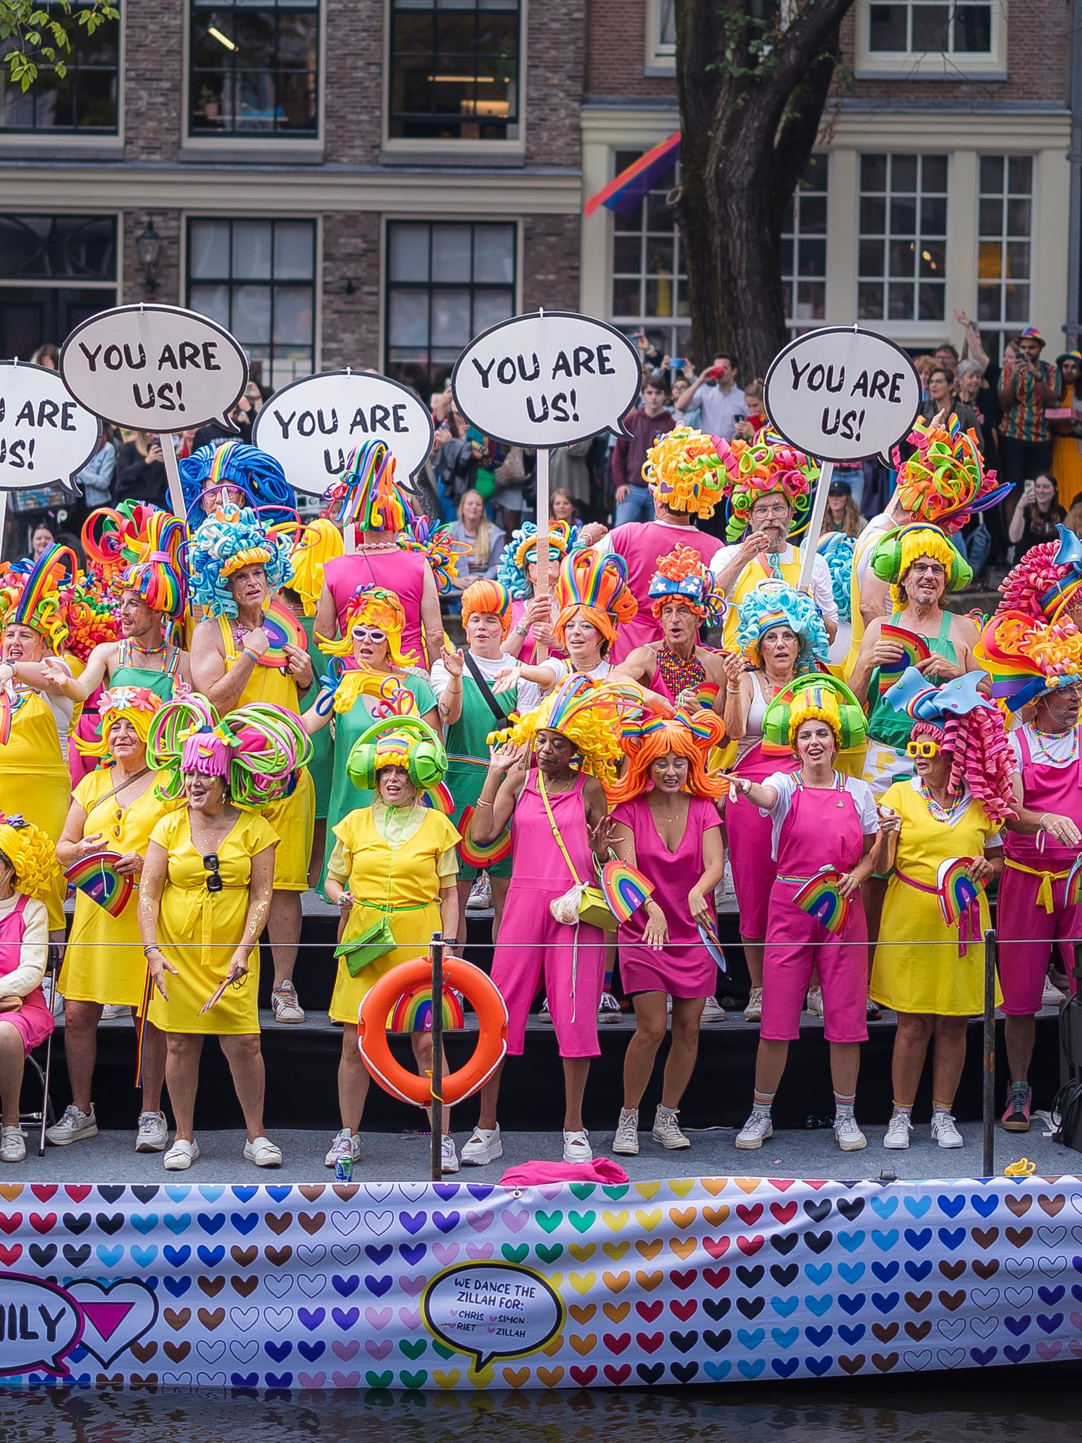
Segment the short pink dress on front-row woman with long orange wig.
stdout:
[[713,997],[717,964],[698,937],[688,911],[688,892],[703,876],[703,838],[721,825],[717,807],[705,797],[692,797],[688,821],[675,851],[661,838],[646,794],[613,808],[613,821],[623,823],[635,838],[635,864],[652,883],[654,900],[669,928],[662,952],[643,942],[646,909],[632,912],[620,925],[620,981],[625,993],[664,991],[671,997]]

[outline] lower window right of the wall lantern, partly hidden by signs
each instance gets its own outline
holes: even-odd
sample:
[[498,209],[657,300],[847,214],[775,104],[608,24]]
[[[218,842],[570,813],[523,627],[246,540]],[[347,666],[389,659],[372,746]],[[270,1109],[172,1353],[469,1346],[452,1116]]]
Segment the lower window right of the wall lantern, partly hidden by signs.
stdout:
[[315,368],[315,221],[189,221],[188,304],[225,326],[277,388]]

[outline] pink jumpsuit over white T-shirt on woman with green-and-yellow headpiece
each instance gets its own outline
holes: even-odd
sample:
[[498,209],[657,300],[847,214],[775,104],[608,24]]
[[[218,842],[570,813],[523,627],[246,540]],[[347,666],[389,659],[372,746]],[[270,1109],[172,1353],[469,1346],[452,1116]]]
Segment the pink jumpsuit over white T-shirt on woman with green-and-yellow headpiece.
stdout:
[[[827,1042],[867,1042],[868,929],[860,893],[850,898],[841,937],[792,900],[801,885],[827,864],[850,872],[861,859],[864,833],[848,789],[805,788],[792,795],[778,837],[770,913],[763,952],[763,1020],[759,1036],[795,1042],[801,1006],[818,964]],[[853,944],[853,945],[843,945]]]

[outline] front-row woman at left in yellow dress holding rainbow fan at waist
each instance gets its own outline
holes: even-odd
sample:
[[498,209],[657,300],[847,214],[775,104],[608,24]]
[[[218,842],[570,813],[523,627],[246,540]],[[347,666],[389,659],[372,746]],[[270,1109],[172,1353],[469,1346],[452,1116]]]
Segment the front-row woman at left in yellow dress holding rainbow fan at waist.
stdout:
[[[162,706],[149,687],[117,687],[101,694],[100,742],[79,742],[84,756],[110,765],[89,772],[72,792],[56,859],[71,867],[100,851],[120,853],[117,872],[138,886],[150,834],[176,804],[154,791],[157,776],[147,762],[147,733]],[[97,1137],[91,1084],[97,1062],[97,1032],[107,1003],[146,1010],[147,964],[138,935],[138,908],[128,898],[113,916],[85,892],[75,893],[75,916],[63,952],[59,991],[65,999],[63,1058],[71,1081],[71,1105],[45,1134],[53,1147]],[[143,1107],[138,1114],[137,1153],[160,1153],[167,1140],[162,1111],[166,1039],[150,1023],[143,1030]]]

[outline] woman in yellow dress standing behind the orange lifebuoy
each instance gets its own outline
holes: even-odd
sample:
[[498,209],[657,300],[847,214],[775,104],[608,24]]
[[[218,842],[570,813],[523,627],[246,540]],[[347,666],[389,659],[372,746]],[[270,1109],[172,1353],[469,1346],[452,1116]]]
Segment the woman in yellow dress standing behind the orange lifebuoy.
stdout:
[[[368,1095],[368,1072],[356,1045],[362,999],[398,962],[426,957],[433,932],[452,938],[459,932],[460,837],[443,812],[420,799],[423,791],[439,786],[447,771],[443,742],[418,717],[377,722],[358,737],[346,769],[353,785],[377,795],[371,807],[358,807],[335,825],[338,841],[327,866],[326,893],[345,919],[339,947],[343,955],[330,999],[332,1020],[343,1023],[338,1069],[342,1130],[325,1159],[327,1167],[361,1159],[358,1128]],[[384,921],[394,944],[353,975],[349,942]],[[413,1033],[413,1051],[423,1075],[431,1066],[431,1033]],[[449,1108],[443,1118],[449,1128]],[[443,1170],[459,1170],[450,1136],[443,1139]]]

